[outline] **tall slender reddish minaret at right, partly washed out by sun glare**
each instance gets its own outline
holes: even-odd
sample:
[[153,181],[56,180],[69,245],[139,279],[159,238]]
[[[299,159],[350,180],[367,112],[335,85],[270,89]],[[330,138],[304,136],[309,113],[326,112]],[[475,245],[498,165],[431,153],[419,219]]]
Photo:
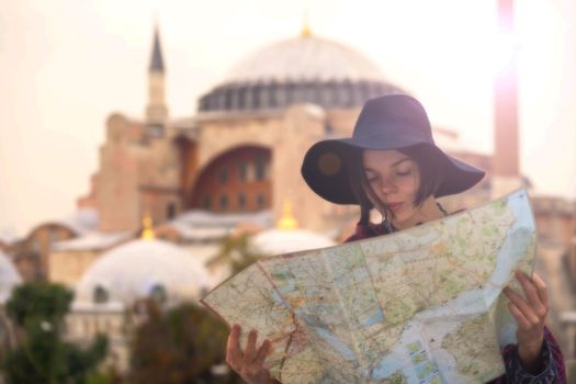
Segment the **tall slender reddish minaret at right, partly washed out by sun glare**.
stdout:
[[[513,0],[498,0],[498,33],[513,43]],[[498,68],[494,89],[493,197],[522,185],[519,169],[518,63],[516,46],[504,68]]]

